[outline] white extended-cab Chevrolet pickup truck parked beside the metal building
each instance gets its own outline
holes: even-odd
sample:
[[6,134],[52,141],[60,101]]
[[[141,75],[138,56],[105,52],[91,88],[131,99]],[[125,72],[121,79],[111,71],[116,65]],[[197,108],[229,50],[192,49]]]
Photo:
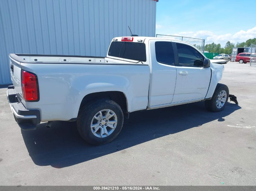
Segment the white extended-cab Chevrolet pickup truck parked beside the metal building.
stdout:
[[197,101],[224,109],[223,65],[189,43],[156,37],[115,37],[106,57],[10,54],[7,97],[22,129],[77,121],[85,141],[112,141],[124,116]]

